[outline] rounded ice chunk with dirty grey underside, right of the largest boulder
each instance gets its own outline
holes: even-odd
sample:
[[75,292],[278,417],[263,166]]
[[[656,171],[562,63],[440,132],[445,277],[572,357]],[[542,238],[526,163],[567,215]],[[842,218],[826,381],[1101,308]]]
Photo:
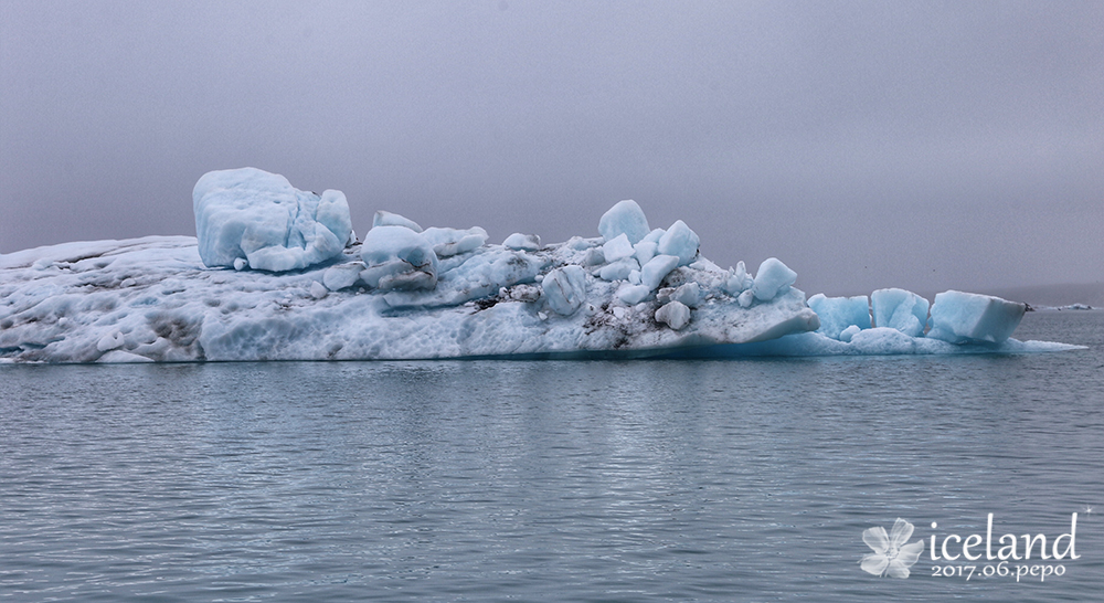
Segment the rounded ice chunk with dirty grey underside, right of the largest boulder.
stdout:
[[379,289],[432,289],[437,285],[437,255],[425,236],[405,226],[376,226],[360,251],[368,266],[360,277]]

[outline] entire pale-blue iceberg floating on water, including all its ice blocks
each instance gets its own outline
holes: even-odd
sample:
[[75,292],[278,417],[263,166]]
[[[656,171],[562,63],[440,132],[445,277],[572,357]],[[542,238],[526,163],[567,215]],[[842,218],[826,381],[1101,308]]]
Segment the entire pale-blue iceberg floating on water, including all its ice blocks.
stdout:
[[[901,289],[828,298],[775,258],[753,276],[633,201],[601,236],[425,229],[380,212],[354,242],[337,191],[226,170],[197,184],[198,239],[66,243],[0,257],[0,359],[47,362],[1021,352],[1023,305]],[[217,186],[215,186],[217,184]],[[244,191],[244,192],[243,192]],[[206,264],[206,265],[204,265]],[[223,267],[233,267],[226,269]],[[251,268],[265,269],[251,269]],[[275,272],[280,271],[280,272]],[[818,317],[818,315],[820,315]],[[818,330],[819,329],[819,330]],[[925,336],[924,332],[927,332]]]

